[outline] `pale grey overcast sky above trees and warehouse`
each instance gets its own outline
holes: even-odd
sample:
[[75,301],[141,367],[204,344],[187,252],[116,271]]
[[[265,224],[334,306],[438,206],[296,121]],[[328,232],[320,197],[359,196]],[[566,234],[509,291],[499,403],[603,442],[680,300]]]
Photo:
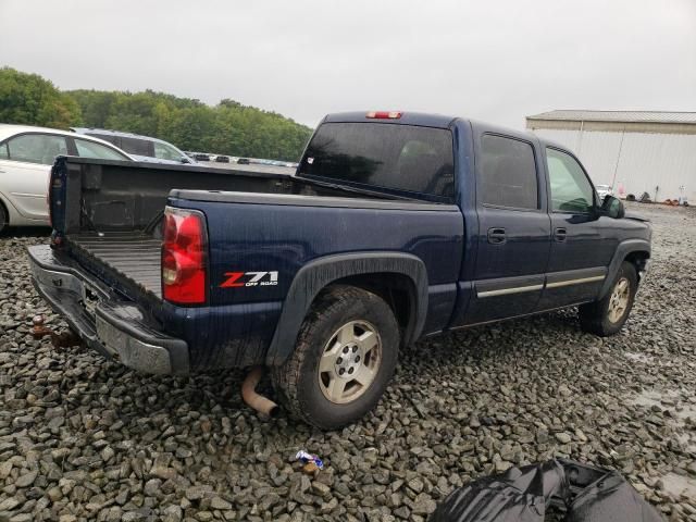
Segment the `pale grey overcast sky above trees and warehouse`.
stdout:
[[552,109],[696,111],[696,0],[0,0],[0,65],[310,126],[400,109],[522,128]]

